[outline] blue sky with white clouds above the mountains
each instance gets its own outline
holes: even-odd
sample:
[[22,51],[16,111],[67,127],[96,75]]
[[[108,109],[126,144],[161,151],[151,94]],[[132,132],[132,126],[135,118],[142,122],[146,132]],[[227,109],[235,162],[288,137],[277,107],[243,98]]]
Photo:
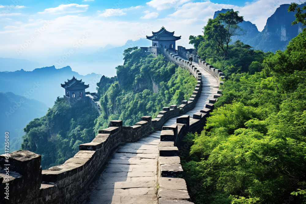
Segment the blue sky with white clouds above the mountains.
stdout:
[[106,44],[122,46],[128,39],[145,38],[162,26],[182,36],[178,45],[191,47],[189,35],[200,35],[217,10],[239,10],[244,20],[261,31],[275,9],[290,2],[4,0],[0,2],[0,57],[36,61],[76,47],[76,42],[82,42],[79,47],[84,52]]

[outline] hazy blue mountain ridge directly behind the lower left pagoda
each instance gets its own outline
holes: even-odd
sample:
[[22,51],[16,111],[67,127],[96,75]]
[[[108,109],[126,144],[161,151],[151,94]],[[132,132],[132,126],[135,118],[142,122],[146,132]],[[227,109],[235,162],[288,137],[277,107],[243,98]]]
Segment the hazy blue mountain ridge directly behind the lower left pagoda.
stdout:
[[52,67],[43,67],[33,71],[24,71],[23,69],[15,72],[0,72],[0,92],[13,92],[14,94],[26,98],[36,99],[45,103],[48,107],[54,105],[58,96],[63,97],[65,90],[61,83],[75,76],[78,80],[82,79],[85,84],[89,84],[86,91],[95,92],[97,82],[101,75],[91,73],[86,76],[72,71],[71,67],[55,69]]

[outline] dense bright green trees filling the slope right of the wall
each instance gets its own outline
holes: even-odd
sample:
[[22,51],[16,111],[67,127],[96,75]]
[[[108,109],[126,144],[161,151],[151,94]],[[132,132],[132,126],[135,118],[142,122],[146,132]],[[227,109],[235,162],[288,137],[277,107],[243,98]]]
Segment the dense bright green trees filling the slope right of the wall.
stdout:
[[305,39],[270,53],[261,72],[229,71],[204,130],[185,136],[195,203],[306,203]]

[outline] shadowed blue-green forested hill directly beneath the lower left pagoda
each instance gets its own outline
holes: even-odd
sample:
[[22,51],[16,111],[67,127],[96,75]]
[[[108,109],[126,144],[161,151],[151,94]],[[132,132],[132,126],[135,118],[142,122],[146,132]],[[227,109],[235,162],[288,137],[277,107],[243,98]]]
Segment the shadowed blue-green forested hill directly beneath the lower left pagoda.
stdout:
[[70,107],[64,98],[57,98],[45,116],[35,118],[25,128],[22,150],[41,155],[43,169],[63,164],[79,151],[79,145],[95,137],[97,111],[89,104]]

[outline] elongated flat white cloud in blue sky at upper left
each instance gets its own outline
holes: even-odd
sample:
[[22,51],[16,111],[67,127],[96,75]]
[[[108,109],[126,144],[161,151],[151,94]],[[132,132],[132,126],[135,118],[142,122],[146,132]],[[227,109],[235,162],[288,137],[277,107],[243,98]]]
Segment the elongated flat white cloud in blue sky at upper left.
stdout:
[[50,14],[62,14],[62,13],[80,13],[85,12],[89,5],[79,4],[62,4],[55,8],[45,9],[43,12],[38,13],[50,13]]

